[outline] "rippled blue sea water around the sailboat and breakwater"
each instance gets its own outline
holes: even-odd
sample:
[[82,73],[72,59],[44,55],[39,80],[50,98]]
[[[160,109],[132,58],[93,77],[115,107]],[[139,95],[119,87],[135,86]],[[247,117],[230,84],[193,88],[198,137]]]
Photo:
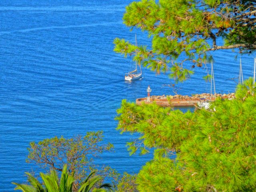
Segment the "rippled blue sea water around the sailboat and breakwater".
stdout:
[[[2,0],[0,2],[0,190],[25,182],[24,172],[41,171],[25,162],[29,142],[63,135],[70,138],[103,130],[115,153],[100,164],[120,173],[137,173],[147,156],[129,156],[129,134],[115,130],[122,99],[174,94],[174,82],[143,68],[142,80],[125,82],[131,60],[113,52],[115,37],[150,44],[146,33],[130,31],[122,15],[132,0]],[[234,92],[239,73],[236,52],[214,52],[216,91]],[[244,78],[252,76],[253,57],[243,56]],[[204,68],[204,69],[202,69]],[[179,94],[210,92],[205,67],[178,84]],[[209,66],[208,66],[209,68]]]

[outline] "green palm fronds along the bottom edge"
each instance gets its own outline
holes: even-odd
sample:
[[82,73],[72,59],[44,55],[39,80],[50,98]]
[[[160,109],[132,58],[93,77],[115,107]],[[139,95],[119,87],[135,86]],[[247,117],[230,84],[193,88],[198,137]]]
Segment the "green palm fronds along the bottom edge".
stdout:
[[66,165],[64,165],[62,169],[60,179],[58,178],[56,170],[51,170],[49,174],[40,173],[43,184],[41,184],[38,179],[30,173],[26,173],[28,175],[28,182],[30,185],[18,184],[15,182],[12,184],[16,185],[15,190],[22,190],[22,192],[106,192],[107,190],[104,188],[111,188],[110,184],[102,184],[98,188],[95,188],[102,178],[100,176],[92,177],[94,173],[95,172],[89,174],[78,190],[74,188],[75,179],[68,172]]

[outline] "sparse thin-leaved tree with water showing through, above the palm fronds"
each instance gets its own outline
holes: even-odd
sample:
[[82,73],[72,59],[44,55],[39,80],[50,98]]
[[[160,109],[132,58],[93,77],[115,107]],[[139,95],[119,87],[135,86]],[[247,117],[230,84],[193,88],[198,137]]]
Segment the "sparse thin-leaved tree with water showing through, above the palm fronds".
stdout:
[[[53,168],[62,171],[62,166],[67,164],[68,171],[74,174],[78,183],[88,172],[97,170],[93,158],[102,152],[113,148],[112,144],[102,144],[102,131],[87,132],[86,136],[77,136],[66,139],[58,138],[44,139],[38,144],[30,142],[28,148],[27,162],[34,162],[42,168]],[[106,166],[98,173],[106,176],[111,168]]]

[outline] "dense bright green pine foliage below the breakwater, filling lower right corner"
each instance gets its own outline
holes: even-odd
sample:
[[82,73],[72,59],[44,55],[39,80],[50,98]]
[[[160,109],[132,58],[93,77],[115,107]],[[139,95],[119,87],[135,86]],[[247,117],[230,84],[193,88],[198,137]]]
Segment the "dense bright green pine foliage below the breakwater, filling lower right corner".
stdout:
[[[236,99],[183,113],[122,101],[118,130],[138,132],[132,153],[154,148],[137,178],[141,192],[256,191],[256,88],[250,78]],[[176,154],[176,156],[173,156]]]

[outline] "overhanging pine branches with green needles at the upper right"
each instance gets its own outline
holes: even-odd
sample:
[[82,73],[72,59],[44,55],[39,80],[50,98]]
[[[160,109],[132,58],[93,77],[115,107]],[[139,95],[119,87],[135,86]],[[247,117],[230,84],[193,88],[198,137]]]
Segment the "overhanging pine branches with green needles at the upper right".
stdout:
[[[215,50],[256,50],[256,0],[141,0],[126,7],[124,24],[148,32],[152,46],[139,46],[134,58],[156,73],[186,80]],[[114,40],[114,51],[134,54],[136,46]]]

